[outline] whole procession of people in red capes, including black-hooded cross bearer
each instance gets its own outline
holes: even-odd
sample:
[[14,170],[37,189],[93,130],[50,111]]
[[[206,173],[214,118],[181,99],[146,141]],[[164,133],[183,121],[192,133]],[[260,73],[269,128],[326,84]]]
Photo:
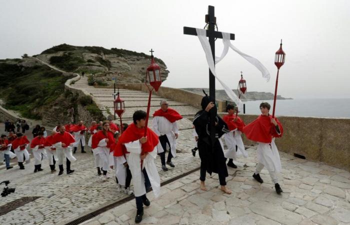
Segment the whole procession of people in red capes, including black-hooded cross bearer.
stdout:
[[[217,115],[216,106],[207,95],[202,98],[201,107],[193,119],[196,146],[192,149],[193,156],[198,150],[201,160],[200,189],[206,190],[206,172],[210,175],[214,172],[218,173],[220,189],[226,194],[231,193],[225,180],[228,176],[227,166],[237,168],[233,160],[239,155],[248,156],[241,138],[244,133],[248,139],[258,143],[258,163],[252,177],[262,183],[259,173],[266,167],[276,192],[281,193],[276,175],[281,164],[274,138],[283,134],[283,127],[268,113],[270,105],[262,102],[259,105],[261,115],[247,125],[237,116],[237,108],[233,104],[227,104],[227,114],[223,118]],[[81,120],[77,124],[57,124],[47,135],[44,127],[36,125],[32,130],[31,141],[27,139],[25,130],[15,133],[11,123],[6,121],[5,131],[8,131],[8,135],[2,134],[0,138],[0,160],[5,160],[6,168],[10,169],[12,166],[9,165],[9,159],[16,157],[19,169],[24,169],[23,162],[30,161],[27,151],[30,144],[35,160],[34,172],[42,171],[42,160],[47,159],[52,173],[56,171],[55,164],[58,161],[58,175],[62,175],[65,160],[66,173],[71,174],[74,170],[70,168],[70,163],[76,160],[74,154],[78,147],[80,146],[81,153],[86,153],[84,146],[88,133],[90,136],[87,145],[92,149],[97,175],[105,181],[110,178],[108,171],[114,169],[117,190],[135,196],[135,222],[138,223],[142,220],[143,205],[150,205],[146,197],[147,190],[152,188],[155,197],[160,192],[160,178],[154,163],[156,155],[160,156],[163,171],[168,170],[166,165],[175,167],[171,159],[176,157],[176,140],[179,135],[177,120],[181,118],[177,111],[168,107],[166,100],[162,100],[160,108],[153,113],[152,129],[145,128],[146,112],[137,110],[132,115],[133,122],[123,123],[122,127],[111,119],[92,121],[86,127]],[[228,148],[225,152],[222,139]],[[165,160],[166,151],[168,154]],[[133,190],[130,188],[131,178]]]

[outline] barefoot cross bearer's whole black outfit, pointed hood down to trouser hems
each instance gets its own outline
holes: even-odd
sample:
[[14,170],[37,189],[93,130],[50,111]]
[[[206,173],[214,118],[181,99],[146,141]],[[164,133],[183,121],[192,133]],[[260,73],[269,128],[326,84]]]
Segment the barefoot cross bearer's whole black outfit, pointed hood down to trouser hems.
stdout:
[[[205,93],[205,92],[204,92]],[[223,155],[221,144],[218,140],[224,133],[228,133],[226,123],[217,116],[216,106],[209,111],[205,108],[209,104],[210,99],[205,94],[201,100],[201,108],[193,119],[195,131],[198,134],[198,152],[200,157],[200,180],[205,180],[205,174],[208,172],[218,173],[220,185],[226,185],[225,177],[228,176],[226,167],[226,158]],[[214,115],[215,134],[210,135],[210,115]]]

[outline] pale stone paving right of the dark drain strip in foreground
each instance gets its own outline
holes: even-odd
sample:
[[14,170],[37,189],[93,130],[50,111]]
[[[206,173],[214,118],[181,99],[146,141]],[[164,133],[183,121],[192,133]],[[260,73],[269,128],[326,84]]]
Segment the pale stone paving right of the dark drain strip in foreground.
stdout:
[[[140,224],[350,224],[349,172],[280,152],[283,193],[278,195],[267,170],[261,172],[262,184],[251,177],[256,148],[247,151],[237,169],[228,168],[232,194],[218,189],[217,175],[207,174],[208,191],[200,190],[196,171],[162,186],[157,199],[148,193],[151,204]],[[134,224],[135,213],[132,199],[83,224]]]

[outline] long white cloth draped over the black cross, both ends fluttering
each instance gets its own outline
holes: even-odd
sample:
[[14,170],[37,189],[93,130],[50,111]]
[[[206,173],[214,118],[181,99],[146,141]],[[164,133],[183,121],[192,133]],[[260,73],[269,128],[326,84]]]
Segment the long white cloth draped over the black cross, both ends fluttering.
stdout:
[[228,95],[228,97],[234,101],[237,104],[237,107],[239,110],[243,109],[243,103],[242,101],[237,97],[237,95],[222,81],[218,78],[218,76],[215,73],[215,63],[219,62],[228,52],[228,47],[230,47],[232,50],[237,52],[239,55],[241,55],[243,58],[245,58],[247,61],[249,61],[251,64],[253,64],[258,70],[260,70],[262,77],[264,77],[267,81],[270,78],[270,74],[265,66],[262,65],[262,63],[257,60],[254,57],[251,57],[250,55],[247,55],[240,50],[238,50],[235,46],[233,46],[229,39],[229,33],[222,32],[222,42],[223,42],[223,50],[220,57],[215,56],[215,63],[212,59],[212,53],[211,48],[209,44],[209,40],[206,38],[206,30],[205,29],[199,29],[196,28],[197,36],[199,38],[199,41],[203,47],[203,50],[205,52],[206,61],[209,65],[209,69],[211,73],[215,76],[215,78],[221,83],[224,91]]

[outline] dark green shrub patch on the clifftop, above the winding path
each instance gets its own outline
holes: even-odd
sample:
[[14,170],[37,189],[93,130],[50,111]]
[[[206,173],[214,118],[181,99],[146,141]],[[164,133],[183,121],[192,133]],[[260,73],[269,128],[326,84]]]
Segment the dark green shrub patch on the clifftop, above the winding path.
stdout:
[[61,56],[52,56],[50,57],[50,64],[55,65],[67,72],[72,72],[77,69],[79,66],[84,65],[85,60],[72,56],[69,53],[64,53]]

